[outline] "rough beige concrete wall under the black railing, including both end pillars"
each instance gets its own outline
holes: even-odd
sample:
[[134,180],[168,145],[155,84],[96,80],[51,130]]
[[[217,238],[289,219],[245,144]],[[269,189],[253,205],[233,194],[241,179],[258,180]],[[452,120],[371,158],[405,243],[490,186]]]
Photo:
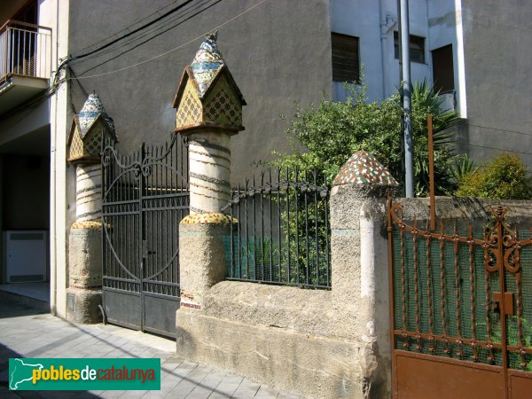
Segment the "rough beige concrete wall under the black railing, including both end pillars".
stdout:
[[177,355],[306,397],[389,396],[383,194],[332,189],[331,291],[223,281],[227,224],[188,216],[179,232]]

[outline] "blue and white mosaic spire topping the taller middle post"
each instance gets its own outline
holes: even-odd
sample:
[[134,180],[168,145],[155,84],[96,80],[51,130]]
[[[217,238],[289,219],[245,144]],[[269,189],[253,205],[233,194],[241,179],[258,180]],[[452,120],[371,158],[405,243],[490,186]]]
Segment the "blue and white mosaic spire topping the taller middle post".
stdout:
[[200,50],[196,52],[196,57],[192,61],[192,73],[200,88],[200,98],[207,91],[207,87],[212,82],[216,72],[224,64],[222,53],[216,44],[218,32],[205,36],[205,40],[200,45]]

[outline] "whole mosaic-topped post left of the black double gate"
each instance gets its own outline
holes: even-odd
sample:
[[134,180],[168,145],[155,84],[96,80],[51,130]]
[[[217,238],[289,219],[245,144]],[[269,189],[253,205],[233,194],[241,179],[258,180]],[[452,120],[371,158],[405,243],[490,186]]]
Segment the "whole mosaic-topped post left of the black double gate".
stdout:
[[98,96],[91,94],[74,116],[68,161],[76,168],[76,221],[70,228],[66,318],[75,323],[98,323],[102,301],[102,135],[116,140],[113,120]]

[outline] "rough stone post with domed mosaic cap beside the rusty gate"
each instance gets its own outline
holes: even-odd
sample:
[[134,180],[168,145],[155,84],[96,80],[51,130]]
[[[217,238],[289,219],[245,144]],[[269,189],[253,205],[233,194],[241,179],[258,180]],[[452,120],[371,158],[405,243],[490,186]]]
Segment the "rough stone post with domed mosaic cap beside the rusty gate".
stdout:
[[332,307],[354,320],[362,376],[356,397],[391,392],[386,195],[397,186],[379,160],[359,152],[331,192]]

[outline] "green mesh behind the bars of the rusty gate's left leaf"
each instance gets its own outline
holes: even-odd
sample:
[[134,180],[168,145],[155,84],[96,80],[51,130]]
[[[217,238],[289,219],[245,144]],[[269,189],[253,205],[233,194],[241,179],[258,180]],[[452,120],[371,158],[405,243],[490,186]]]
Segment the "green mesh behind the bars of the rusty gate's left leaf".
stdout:
[[[458,235],[467,237],[467,231]],[[441,247],[438,239],[419,237],[415,252],[410,232],[404,231],[402,240],[395,228],[393,236],[395,330],[421,334],[396,335],[395,348],[500,365],[500,320],[490,300],[500,291],[499,281],[497,273],[485,272],[481,246],[470,252],[467,243],[458,243],[455,255],[452,242]],[[482,239],[481,232],[473,236]]]

